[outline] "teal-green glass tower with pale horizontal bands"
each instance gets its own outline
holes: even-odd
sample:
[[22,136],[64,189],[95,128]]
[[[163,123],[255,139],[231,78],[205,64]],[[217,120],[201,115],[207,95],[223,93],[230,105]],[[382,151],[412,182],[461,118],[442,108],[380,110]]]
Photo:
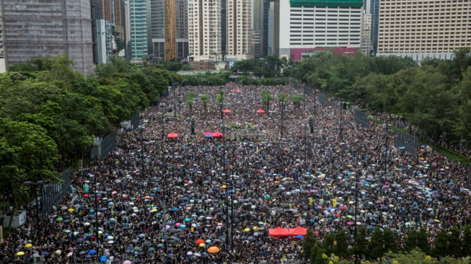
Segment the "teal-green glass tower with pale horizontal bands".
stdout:
[[141,63],[147,53],[147,14],[146,0],[129,0],[130,17],[130,58],[133,63]]

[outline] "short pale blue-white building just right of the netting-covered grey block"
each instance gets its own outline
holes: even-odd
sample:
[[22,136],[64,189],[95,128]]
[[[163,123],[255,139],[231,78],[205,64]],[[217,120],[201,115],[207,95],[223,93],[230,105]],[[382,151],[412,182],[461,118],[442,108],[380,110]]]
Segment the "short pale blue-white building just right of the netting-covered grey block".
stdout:
[[113,54],[113,35],[111,23],[105,19],[96,21],[98,63],[106,63]]

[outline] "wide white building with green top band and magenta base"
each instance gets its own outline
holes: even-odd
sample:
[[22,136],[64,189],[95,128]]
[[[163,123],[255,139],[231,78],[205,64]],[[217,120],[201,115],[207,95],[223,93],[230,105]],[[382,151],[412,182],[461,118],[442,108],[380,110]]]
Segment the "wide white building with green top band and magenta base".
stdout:
[[280,0],[280,56],[300,60],[326,48],[355,53],[361,47],[363,0]]

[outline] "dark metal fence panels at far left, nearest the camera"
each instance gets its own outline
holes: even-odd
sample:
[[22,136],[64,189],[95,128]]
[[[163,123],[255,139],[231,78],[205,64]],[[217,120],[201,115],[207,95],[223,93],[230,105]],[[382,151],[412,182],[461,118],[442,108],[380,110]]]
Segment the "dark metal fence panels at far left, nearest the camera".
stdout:
[[44,185],[41,190],[42,217],[47,218],[53,207],[59,206],[72,192],[72,170],[64,170],[59,176],[63,182]]

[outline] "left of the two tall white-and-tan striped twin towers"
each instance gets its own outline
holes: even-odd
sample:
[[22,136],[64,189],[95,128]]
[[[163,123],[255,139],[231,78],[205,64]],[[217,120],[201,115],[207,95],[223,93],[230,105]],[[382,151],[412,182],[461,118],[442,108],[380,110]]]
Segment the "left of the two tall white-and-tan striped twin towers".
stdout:
[[224,1],[188,0],[189,61],[223,59],[221,2]]

